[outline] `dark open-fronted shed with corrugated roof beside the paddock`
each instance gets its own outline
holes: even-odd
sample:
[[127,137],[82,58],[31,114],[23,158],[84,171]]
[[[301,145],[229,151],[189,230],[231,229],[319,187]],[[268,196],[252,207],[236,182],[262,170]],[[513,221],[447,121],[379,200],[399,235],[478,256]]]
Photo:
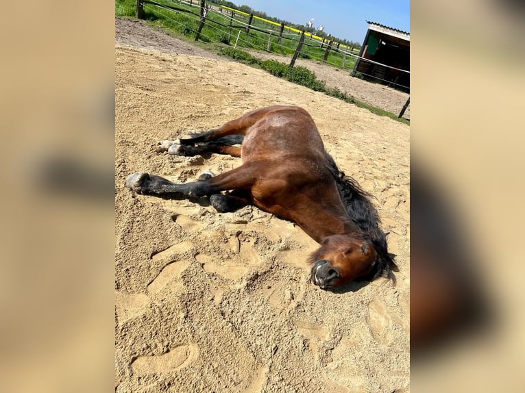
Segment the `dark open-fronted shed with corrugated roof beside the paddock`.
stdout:
[[363,78],[410,91],[410,33],[369,22],[354,72]]

